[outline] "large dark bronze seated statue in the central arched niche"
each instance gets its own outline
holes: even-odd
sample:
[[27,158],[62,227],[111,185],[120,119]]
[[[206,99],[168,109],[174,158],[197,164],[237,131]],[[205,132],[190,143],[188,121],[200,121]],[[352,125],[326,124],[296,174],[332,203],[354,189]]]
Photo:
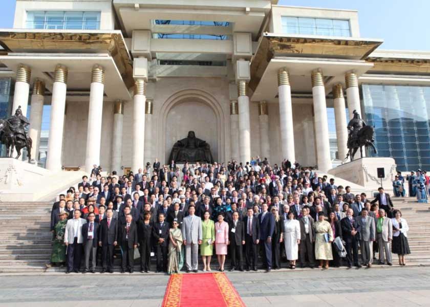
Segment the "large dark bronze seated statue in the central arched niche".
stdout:
[[207,162],[213,163],[210,145],[196,138],[194,131],[188,131],[188,137],[179,140],[171,149],[169,162]]

